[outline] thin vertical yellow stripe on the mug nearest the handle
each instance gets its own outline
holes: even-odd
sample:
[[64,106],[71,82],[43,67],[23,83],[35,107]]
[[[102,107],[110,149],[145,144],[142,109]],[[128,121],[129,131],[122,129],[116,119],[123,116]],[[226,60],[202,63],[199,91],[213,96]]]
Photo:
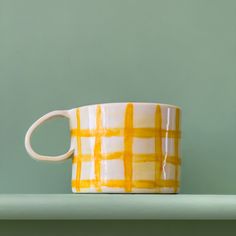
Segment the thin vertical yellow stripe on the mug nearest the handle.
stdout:
[[[76,192],[80,191],[80,174],[81,174],[81,157],[82,157],[82,148],[81,148],[81,137],[80,137],[80,110],[76,109],[76,120],[77,120],[77,158],[76,158]],[[75,158],[75,157],[74,157]]]

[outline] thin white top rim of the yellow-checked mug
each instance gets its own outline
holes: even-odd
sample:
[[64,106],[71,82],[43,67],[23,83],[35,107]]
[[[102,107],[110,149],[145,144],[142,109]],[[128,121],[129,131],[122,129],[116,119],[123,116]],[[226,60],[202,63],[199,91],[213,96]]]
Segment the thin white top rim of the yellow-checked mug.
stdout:
[[149,106],[149,105],[159,105],[159,106],[163,106],[163,107],[168,107],[168,108],[175,108],[175,109],[179,109],[180,111],[182,111],[182,108],[180,106],[177,105],[171,105],[171,104],[166,104],[166,103],[155,103],[155,102],[105,102],[105,103],[96,103],[96,104],[88,104],[88,105],[83,105],[83,106],[78,106],[78,107],[74,107],[73,109],[77,109],[77,108],[85,108],[85,107],[90,107],[90,106],[98,106],[98,105],[124,105],[127,103],[132,103],[134,105],[145,105],[145,106]]

